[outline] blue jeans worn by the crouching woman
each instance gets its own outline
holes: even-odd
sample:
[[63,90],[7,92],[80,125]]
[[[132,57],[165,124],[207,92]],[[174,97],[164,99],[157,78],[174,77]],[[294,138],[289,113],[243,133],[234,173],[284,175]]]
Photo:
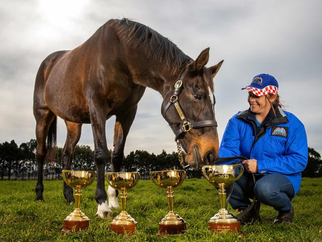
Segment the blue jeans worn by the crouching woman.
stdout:
[[[234,188],[229,199],[233,209],[245,209],[251,204],[249,198],[273,207],[277,211],[289,211],[293,208],[291,199],[294,195],[292,183],[281,174],[268,174],[266,176],[255,176],[254,185],[253,175],[244,172],[243,176],[234,182]],[[226,188],[227,195],[230,187]]]

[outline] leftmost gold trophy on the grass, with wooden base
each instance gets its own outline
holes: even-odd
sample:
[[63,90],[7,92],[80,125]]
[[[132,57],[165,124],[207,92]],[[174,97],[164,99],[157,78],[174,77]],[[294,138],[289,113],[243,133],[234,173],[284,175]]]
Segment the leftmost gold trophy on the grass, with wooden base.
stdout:
[[63,222],[63,233],[73,233],[87,230],[90,226],[90,219],[79,209],[81,202],[81,188],[94,182],[96,172],[92,171],[72,171],[63,170],[62,179],[67,185],[76,188],[75,190],[75,210],[69,214]]

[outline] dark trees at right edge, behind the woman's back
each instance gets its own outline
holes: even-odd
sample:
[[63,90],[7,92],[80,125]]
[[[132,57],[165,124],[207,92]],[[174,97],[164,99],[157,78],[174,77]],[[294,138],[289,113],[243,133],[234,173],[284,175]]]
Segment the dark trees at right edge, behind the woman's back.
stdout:
[[309,159],[305,170],[302,172],[302,177],[322,177],[322,161],[321,155],[313,148],[308,147]]

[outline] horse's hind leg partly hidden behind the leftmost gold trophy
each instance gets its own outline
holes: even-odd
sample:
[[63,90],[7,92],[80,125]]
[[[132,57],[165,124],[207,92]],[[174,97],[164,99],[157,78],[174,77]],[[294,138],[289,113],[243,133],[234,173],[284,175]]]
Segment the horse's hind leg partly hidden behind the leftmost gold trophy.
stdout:
[[[64,148],[61,153],[61,162],[63,170],[71,169],[71,162],[73,160],[74,149],[79,141],[82,131],[82,123],[75,123],[65,121],[67,127],[67,137]],[[74,202],[73,189],[64,182],[64,196],[67,203]]]

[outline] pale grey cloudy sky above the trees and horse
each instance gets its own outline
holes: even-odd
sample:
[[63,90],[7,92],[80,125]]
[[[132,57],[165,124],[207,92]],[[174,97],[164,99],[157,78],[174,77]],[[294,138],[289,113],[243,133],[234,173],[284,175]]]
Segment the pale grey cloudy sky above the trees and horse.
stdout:
[[[269,73],[279,81],[285,109],[304,123],[309,146],[322,153],[321,9],[321,0],[1,1],[0,142],[35,138],[33,89],[42,60],[82,44],[108,19],[127,17],[170,38],[193,59],[210,47],[208,66],[225,60],[215,77],[219,140],[228,119],[248,108],[247,92],[240,88],[254,75]],[[176,149],[161,101],[159,93],[147,89],[125,154]],[[106,125],[108,148],[114,121]],[[57,135],[62,147],[66,128],[61,119]],[[83,125],[79,144],[94,148],[89,124]]]

